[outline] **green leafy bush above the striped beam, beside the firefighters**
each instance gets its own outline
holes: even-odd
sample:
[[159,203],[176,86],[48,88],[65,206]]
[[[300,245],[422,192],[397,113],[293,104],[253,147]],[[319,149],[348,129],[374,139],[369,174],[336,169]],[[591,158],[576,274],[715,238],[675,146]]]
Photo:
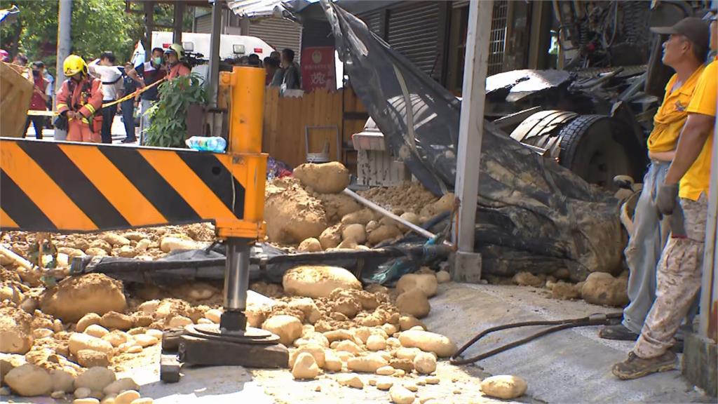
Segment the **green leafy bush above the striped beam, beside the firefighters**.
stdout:
[[192,104],[207,104],[207,92],[197,73],[177,77],[159,85],[159,101],[147,114],[151,124],[146,144],[158,147],[185,147],[187,109]]

